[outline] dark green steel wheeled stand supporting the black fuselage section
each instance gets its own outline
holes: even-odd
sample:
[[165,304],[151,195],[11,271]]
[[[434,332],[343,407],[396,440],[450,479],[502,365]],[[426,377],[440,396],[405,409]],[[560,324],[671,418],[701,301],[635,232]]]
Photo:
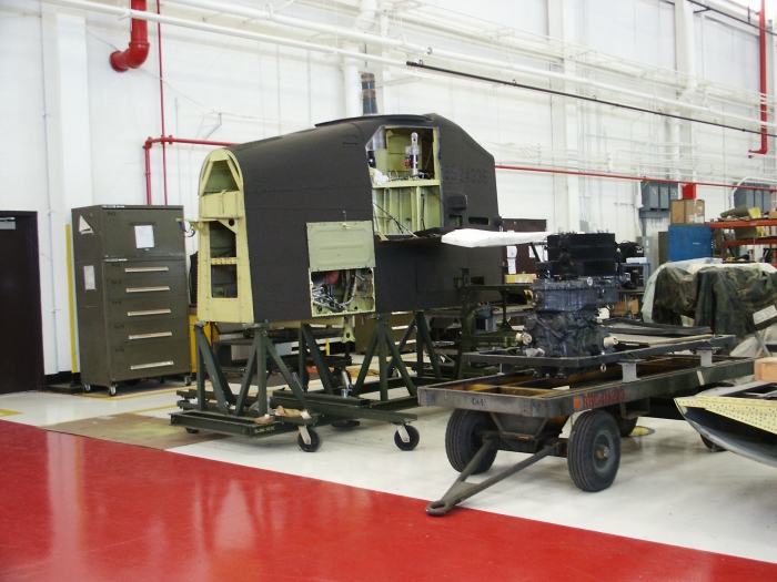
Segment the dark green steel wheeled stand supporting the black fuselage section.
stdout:
[[[345,370],[350,357],[324,356],[317,346],[316,339],[327,337],[326,334],[332,335],[332,330],[313,328],[307,324],[301,324],[299,329],[271,329],[266,324],[251,326],[254,338],[238,394],[232,391],[226,381],[224,370],[203,331],[204,324],[194,324],[196,388],[178,392],[182,398],[178,402],[182,411],[171,415],[171,425],[184,427],[190,432],[204,430],[251,439],[299,432],[300,448],[305,452],[314,452],[322,442],[314,427],[333,425],[349,428],[359,425],[357,419],[371,419],[396,425],[395,445],[402,450],[413,450],[420,441],[420,435],[410,422],[417,417],[403,410],[417,406],[417,384],[442,379],[434,347],[423,314],[413,315],[408,330],[398,346],[391,338],[386,316],[379,315],[376,319],[375,331],[354,382]],[[416,376],[411,377],[401,350],[413,330],[417,331],[418,339],[416,361],[414,366],[411,364]],[[297,340],[299,356],[284,359],[275,347],[278,340]],[[424,348],[432,356],[431,365],[424,363]],[[379,356],[380,379],[366,382],[373,355]],[[319,372],[321,390],[307,389],[310,364]],[[334,372],[331,368],[334,368]],[[281,374],[287,389],[268,392],[268,377],[272,370]],[[393,370],[396,370],[397,378],[391,378]],[[431,372],[431,376],[426,372]],[[258,378],[258,394],[250,396],[254,375]],[[205,376],[211,379],[211,390],[205,390]],[[406,388],[408,396],[390,398],[389,390],[397,387]],[[380,397],[365,398],[364,395],[371,391],[380,392]],[[280,407],[293,410],[294,415],[269,413],[271,409],[278,410]]]

